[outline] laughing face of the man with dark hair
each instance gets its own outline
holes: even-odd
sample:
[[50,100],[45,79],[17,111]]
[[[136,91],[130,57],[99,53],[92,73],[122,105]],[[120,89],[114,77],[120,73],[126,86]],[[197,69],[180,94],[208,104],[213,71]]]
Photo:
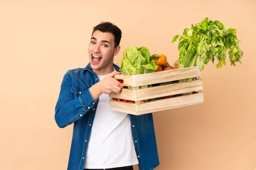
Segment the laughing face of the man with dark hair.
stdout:
[[120,47],[115,48],[114,36],[108,32],[94,31],[90,39],[88,53],[90,66],[97,75],[113,71],[113,59]]

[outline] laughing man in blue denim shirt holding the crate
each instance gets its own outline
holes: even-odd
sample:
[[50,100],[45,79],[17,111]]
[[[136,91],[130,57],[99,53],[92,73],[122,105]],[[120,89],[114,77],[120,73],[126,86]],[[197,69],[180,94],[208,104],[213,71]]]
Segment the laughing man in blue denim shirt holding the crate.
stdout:
[[109,96],[122,84],[113,64],[120,51],[121,30],[112,23],[93,28],[90,63],[68,70],[61,83],[55,121],[74,123],[68,170],[153,170],[159,165],[152,113],[134,116],[111,111]]

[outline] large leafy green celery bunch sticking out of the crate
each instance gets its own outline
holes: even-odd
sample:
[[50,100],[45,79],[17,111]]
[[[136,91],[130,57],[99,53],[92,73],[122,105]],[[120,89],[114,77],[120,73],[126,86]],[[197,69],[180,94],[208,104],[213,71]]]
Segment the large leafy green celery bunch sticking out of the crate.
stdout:
[[[200,71],[204,70],[204,64],[210,60],[214,63],[215,56],[218,59],[217,68],[226,65],[226,55],[229,54],[230,64],[236,65],[243,56],[243,51],[239,48],[240,40],[236,37],[236,29],[222,24],[219,21],[208,20],[206,17],[201,23],[186,28],[183,35],[175,35],[172,43],[179,39],[178,68],[196,66],[199,56]],[[229,50],[229,51],[228,51]],[[192,79],[183,79],[179,82],[186,82]]]

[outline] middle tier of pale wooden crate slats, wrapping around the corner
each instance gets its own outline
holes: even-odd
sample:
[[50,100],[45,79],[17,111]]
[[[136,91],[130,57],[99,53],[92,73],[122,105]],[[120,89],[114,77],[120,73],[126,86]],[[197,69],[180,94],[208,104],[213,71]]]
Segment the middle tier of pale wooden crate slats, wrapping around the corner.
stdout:
[[119,94],[110,94],[109,96],[117,99],[140,101],[200,90],[203,90],[202,79],[151,88],[141,88],[136,91],[123,88]]

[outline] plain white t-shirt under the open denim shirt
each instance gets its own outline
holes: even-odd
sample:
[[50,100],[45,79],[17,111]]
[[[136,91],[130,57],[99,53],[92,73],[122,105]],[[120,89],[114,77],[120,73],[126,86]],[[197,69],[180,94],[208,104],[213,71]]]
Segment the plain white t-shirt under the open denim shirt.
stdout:
[[[98,76],[101,81],[105,76]],[[138,164],[127,113],[111,111],[108,94],[99,96],[85,169],[104,169]]]

